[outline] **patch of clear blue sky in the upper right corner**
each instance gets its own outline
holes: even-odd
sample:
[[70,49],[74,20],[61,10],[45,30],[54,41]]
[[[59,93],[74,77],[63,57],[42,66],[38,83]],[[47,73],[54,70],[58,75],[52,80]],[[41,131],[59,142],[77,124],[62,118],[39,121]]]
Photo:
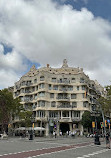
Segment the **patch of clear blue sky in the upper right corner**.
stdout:
[[81,10],[85,7],[91,11],[94,16],[100,16],[111,21],[111,1],[110,0],[54,0],[61,5],[70,4],[74,9]]

